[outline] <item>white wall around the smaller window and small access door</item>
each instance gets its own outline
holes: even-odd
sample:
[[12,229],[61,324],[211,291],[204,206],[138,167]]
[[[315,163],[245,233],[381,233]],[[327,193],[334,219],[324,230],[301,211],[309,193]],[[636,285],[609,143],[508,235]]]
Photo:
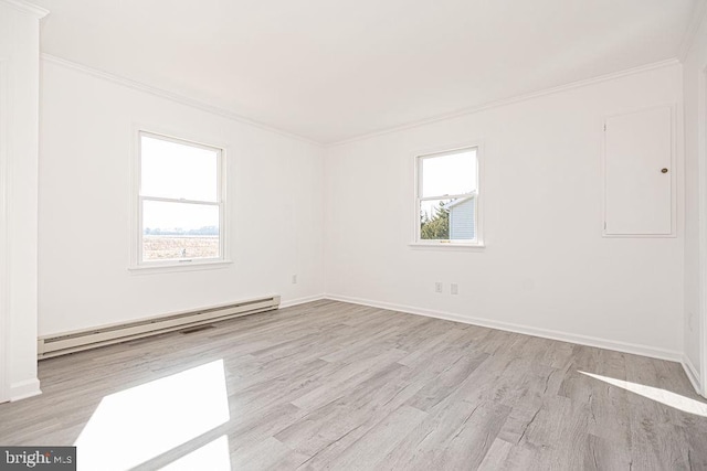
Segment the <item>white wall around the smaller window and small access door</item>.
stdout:
[[[683,228],[675,238],[602,238],[600,162],[603,117],[678,105],[680,69],[665,65],[329,149],[327,293],[679,358]],[[415,152],[476,139],[485,146],[486,249],[411,248]]]

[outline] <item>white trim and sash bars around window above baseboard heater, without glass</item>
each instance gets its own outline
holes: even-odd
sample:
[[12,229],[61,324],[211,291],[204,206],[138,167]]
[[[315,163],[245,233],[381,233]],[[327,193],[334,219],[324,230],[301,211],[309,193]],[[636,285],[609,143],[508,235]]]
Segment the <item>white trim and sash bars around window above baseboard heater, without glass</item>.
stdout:
[[[232,264],[229,258],[229,245],[228,240],[228,211],[226,211],[226,154],[228,148],[222,144],[207,143],[207,140],[193,138],[187,133],[171,132],[157,129],[152,126],[133,126],[133,159],[130,159],[130,260],[128,270],[134,274],[158,274],[170,271],[192,271],[192,270],[205,270],[225,268]],[[171,141],[176,143],[183,143],[192,147],[203,148],[208,150],[219,151],[219,165],[218,165],[218,188],[219,195],[218,203],[213,202],[199,202],[191,200],[179,199],[162,199],[152,196],[143,196],[140,194],[140,178],[141,178],[141,152],[140,152],[140,137],[151,136],[157,139]],[[179,137],[178,137],[179,136]],[[209,204],[219,205],[219,251],[220,257],[211,258],[194,258],[188,260],[166,260],[166,261],[143,261],[143,201],[179,201],[184,203],[194,204]]]

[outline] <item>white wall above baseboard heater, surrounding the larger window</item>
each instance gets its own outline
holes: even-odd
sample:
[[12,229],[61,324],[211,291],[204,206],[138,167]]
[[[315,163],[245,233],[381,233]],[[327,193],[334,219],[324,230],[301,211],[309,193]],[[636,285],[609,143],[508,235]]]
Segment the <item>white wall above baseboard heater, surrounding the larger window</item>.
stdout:
[[[40,335],[278,293],[323,292],[323,156],[312,143],[42,61]],[[133,126],[228,146],[233,264],[128,271]],[[292,275],[298,283],[292,283]]]

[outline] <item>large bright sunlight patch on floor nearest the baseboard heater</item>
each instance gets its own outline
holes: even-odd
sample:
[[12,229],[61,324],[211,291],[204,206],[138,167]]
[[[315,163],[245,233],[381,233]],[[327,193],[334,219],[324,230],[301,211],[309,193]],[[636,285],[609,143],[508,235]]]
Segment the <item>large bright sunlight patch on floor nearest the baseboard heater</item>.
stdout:
[[101,400],[74,443],[78,469],[130,469],[229,419],[223,360],[141,384]]

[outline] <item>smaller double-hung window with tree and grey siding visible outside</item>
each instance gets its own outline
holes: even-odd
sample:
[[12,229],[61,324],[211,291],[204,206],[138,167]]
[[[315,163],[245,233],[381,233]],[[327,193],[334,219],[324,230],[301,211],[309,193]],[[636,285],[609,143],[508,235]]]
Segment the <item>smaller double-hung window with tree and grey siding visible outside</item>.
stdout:
[[478,148],[416,158],[415,242],[481,245]]

